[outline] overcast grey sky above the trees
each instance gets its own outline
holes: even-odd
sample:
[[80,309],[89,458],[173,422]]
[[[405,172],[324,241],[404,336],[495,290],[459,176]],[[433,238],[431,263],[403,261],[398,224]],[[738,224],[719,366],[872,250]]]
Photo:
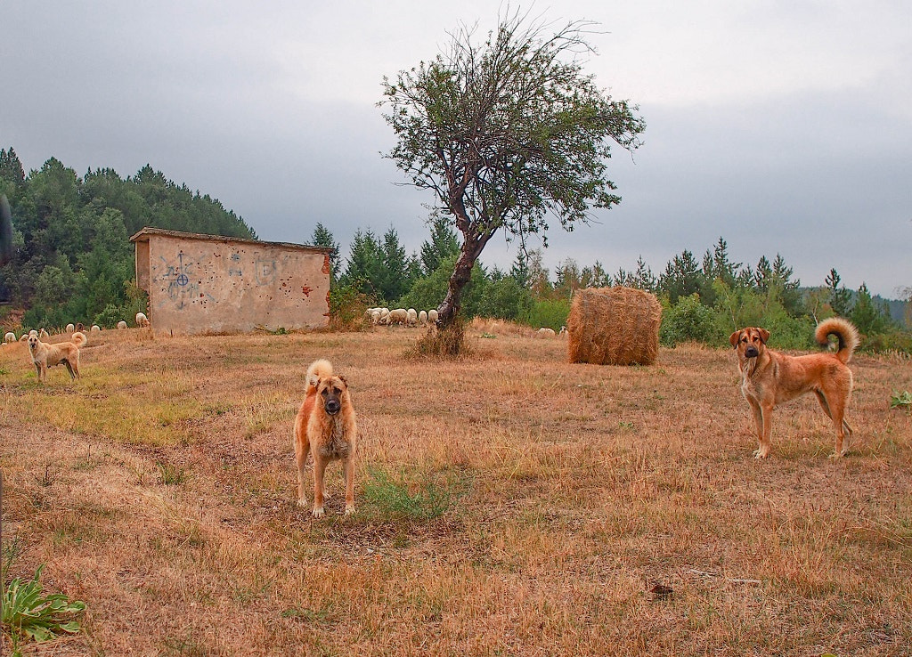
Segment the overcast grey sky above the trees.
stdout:
[[[505,5],[504,5],[505,7]],[[803,284],[912,286],[912,2],[565,0],[513,3],[601,34],[585,70],[639,105],[647,128],[609,178],[621,204],[548,233],[572,257],[655,273],[720,238],[736,262],[781,253]],[[503,13],[503,7],[501,8]],[[430,192],[381,152],[384,76],[437,55],[498,4],[26,2],[0,4],[0,147],[26,171],[50,157],[82,176],[149,163],[221,200],[259,237],[348,252],[394,226],[409,252]],[[515,245],[482,262],[509,268]]]

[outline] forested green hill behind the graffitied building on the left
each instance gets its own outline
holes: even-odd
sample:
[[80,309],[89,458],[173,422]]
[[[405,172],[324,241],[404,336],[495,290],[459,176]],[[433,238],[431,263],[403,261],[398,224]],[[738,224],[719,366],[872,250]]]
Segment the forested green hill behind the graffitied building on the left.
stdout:
[[[79,177],[56,158],[26,175],[12,148],[0,150],[0,194],[9,199],[15,253],[0,268],[0,303],[27,309],[23,323],[116,323],[145,300],[130,286],[130,235],[145,227],[257,239],[218,199],[146,165]],[[0,322],[2,322],[0,315]]]

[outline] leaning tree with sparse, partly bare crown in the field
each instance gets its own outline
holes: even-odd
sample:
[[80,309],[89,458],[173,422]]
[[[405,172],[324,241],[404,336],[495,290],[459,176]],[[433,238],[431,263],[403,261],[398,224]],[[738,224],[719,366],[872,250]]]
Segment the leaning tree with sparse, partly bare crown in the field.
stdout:
[[482,44],[475,30],[451,33],[428,63],[383,79],[383,117],[396,132],[393,159],[409,185],[432,190],[435,210],[461,232],[460,256],[438,308],[440,328],[453,323],[461,292],[498,229],[524,246],[556,218],[572,231],[590,210],[620,201],[606,160],[611,142],[633,150],[645,127],[637,106],[613,100],[583,72],[595,53],[595,24],[549,26],[513,13]]

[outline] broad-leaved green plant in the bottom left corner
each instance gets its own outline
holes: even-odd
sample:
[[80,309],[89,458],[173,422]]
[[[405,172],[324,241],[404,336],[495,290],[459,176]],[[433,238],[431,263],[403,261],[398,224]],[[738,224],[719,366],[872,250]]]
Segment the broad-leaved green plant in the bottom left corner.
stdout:
[[3,631],[13,643],[14,655],[19,654],[19,642],[34,639],[47,642],[60,632],[74,634],[79,623],[67,618],[86,609],[85,602],[70,601],[62,593],[43,595],[41,571],[45,564],[38,566],[32,580],[16,578],[3,590]]

